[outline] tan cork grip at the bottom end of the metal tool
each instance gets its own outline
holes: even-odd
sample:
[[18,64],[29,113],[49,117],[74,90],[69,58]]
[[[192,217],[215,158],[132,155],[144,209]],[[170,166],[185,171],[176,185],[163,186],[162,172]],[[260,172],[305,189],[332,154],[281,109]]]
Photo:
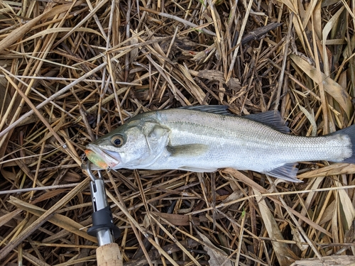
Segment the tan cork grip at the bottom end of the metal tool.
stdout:
[[119,245],[110,243],[96,250],[97,266],[122,266],[124,264]]

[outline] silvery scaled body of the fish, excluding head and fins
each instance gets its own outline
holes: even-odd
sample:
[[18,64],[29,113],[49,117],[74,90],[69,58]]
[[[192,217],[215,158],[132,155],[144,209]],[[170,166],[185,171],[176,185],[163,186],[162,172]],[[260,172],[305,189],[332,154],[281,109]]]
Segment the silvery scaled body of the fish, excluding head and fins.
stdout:
[[[181,116],[188,116],[188,121],[182,120]],[[342,135],[297,137],[243,117],[214,113],[191,115],[190,110],[182,110],[178,114],[174,111],[158,113],[157,119],[171,128],[170,142],[173,146],[209,143],[208,152],[195,157],[204,167],[214,162],[217,168],[253,168],[258,172],[268,172],[275,165],[308,160],[342,161],[351,155],[351,148],[347,148],[350,140]],[[261,161],[255,165],[255,160]],[[170,169],[175,160],[162,158],[156,163],[160,169]]]

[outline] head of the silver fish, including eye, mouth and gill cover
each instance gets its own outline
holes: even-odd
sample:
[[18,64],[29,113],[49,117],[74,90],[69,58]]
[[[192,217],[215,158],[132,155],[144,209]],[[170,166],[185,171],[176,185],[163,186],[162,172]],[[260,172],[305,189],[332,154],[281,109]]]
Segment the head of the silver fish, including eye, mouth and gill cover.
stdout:
[[98,169],[144,169],[163,153],[168,135],[159,123],[132,121],[87,145],[85,154]]

